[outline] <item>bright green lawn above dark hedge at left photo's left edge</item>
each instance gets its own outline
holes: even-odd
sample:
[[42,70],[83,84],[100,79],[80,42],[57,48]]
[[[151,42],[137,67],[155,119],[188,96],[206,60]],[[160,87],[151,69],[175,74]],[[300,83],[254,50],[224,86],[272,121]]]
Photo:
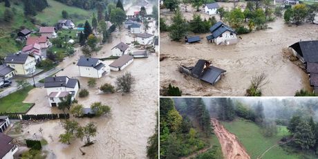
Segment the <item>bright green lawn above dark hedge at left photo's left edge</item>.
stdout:
[[28,92],[32,89],[32,86],[28,86],[23,90],[19,90],[15,93],[0,98],[0,112],[7,113],[24,113],[32,104],[23,103],[24,99],[28,95]]

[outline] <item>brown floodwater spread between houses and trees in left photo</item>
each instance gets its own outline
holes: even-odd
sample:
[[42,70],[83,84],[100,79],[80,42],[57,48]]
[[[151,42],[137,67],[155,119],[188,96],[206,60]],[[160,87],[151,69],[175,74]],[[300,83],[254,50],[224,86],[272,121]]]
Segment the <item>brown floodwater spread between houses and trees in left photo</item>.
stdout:
[[[148,9],[152,5],[147,6]],[[135,10],[129,8],[129,10]],[[129,11],[131,12],[131,11]],[[151,23],[151,29],[148,32],[158,35],[156,26]],[[120,41],[131,42],[133,37],[128,36],[128,31],[123,29],[120,32],[113,33],[111,44],[105,44],[102,49],[93,53],[93,57],[108,57],[111,55],[111,48]],[[133,48],[132,50],[137,50]],[[18,140],[25,138],[41,138],[39,127],[44,129],[43,138],[48,141],[45,150],[48,151],[48,158],[147,158],[146,147],[148,138],[153,135],[156,127],[156,111],[158,111],[158,56],[149,55],[146,59],[134,59],[133,63],[124,71],[111,72],[100,79],[97,79],[97,85],[93,88],[87,86],[87,77],[79,77],[76,63],[82,55],[82,51],[77,48],[77,54],[68,57],[59,67],[64,68],[57,75],[67,75],[79,79],[81,88],[87,88],[88,97],[77,98],[79,104],[89,107],[93,102],[102,102],[111,106],[111,113],[100,118],[75,119],[84,125],[90,121],[97,124],[97,135],[93,138],[95,144],[90,147],[82,147],[84,141],[74,140],[72,144],[62,144],[58,142],[58,136],[64,133],[60,120],[24,124],[24,133],[16,135]],[[112,60],[104,63],[110,64]],[[135,77],[133,91],[128,94],[101,93],[99,87],[104,83],[115,85],[115,79],[125,72],[130,72]],[[57,109],[51,109],[46,97],[45,88],[35,88],[28,93],[24,102],[35,102],[35,106],[28,112],[37,113],[59,113]],[[29,133],[28,133],[29,132]],[[33,135],[36,134],[36,135]],[[52,136],[53,140],[49,136]],[[86,153],[82,156],[79,151]]]

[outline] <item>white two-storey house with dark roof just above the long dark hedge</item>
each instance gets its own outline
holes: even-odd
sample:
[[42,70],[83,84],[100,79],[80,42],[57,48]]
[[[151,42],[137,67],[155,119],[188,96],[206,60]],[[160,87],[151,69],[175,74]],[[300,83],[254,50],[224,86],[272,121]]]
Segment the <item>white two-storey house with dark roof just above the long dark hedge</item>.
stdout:
[[68,94],[71,94],[72,100],[74,100],[80,86],[79,81],[75,78],[55,76],[44,79],[44,88],[46,88],[50,106],[58,106],[60,97],[66,97]]

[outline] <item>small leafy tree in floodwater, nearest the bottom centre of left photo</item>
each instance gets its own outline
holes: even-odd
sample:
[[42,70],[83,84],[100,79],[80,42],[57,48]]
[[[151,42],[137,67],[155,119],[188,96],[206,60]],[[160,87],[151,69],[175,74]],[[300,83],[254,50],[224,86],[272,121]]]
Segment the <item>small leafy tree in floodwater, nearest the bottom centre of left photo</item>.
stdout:
[[85,127],[79,127],[77,129],[77,138],[86,138],[86,144],[91,144],[91,138],[97,133],[97,127],[93,122],[89,122]]

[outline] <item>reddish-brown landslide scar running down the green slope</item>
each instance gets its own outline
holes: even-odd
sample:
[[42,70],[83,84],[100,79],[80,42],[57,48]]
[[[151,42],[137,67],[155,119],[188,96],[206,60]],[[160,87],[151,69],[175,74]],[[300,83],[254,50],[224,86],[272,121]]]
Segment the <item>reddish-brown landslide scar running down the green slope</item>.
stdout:
[[226,159],[250,159],[243,145],[238,142],[236,136],[227,131],[215,118],[211,119],[214,125],[214,133],[221,143],[222,153]]

